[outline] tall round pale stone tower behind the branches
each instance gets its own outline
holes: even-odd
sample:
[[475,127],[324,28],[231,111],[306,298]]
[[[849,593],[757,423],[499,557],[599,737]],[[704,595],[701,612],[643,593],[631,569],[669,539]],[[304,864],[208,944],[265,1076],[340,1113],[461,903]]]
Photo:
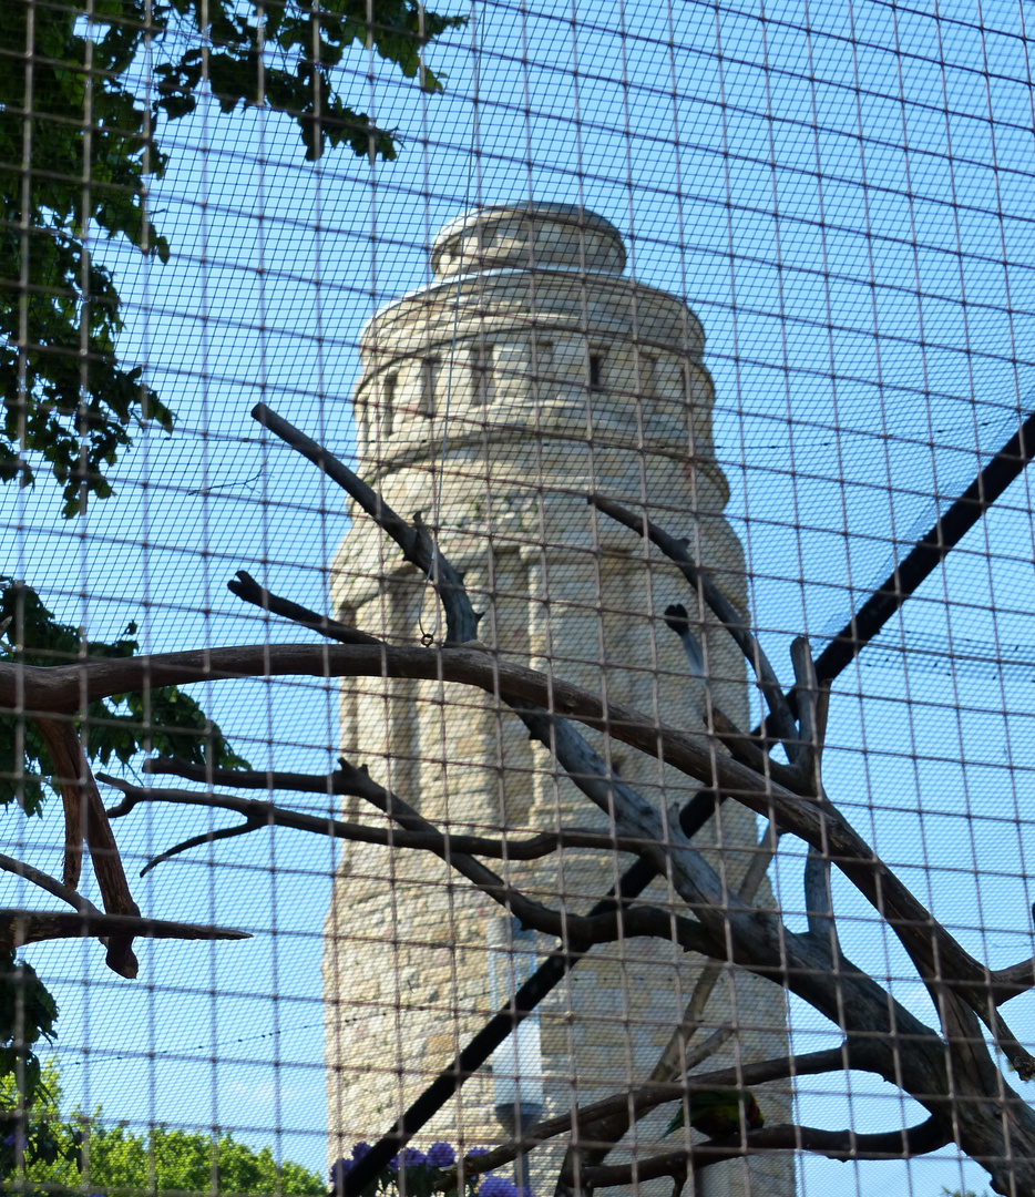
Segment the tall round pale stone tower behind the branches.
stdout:
[[[480,208],[446,225],[432,249],[434,281],[382,309],[364,332],[358,468],[396,511],[420,511],[439,529],[483,613],[480,639],[500,658],[605,686],[665,722],[701,728],[704,689],[660,619],[670,602],[695,608],[693,595],[666,561],[585,500],[596,490],[646,506],[688,537],[747,609],[743,554],[723,515],[729,491],[712,451],[701,326],[674,296],[626,278],[625,265],[617,230],[565,205]],[[361,512],[334,570],[340,619],[394,643],[442,637],[425,578]],[[732,640],[699,631],[714,700],[750,725]],[[692,795],[687,777],[589,735],[657,803],[677,807]],[[481,692],[349,683],[342,749],[455,832],[607,826],[517,718]],[[379,818],[354,802],[347,814]],[[736,885],[756,836],[754,815],[727,803],[718,831],[710,825],[700,839],[716,845],[717,867]],[[566,851],[494,867],[535,886],[540,900],[582,913],[629,863]],[[645,900],[671,899],[659,883]],[[436,857],[346,845],[324,956],[331,1155],[390,1126],[549,946],[501,918]],[[647,1078],[701,964],[660,941],[598,947],[419,1143],[499,1142],[519,1114],[567,1112],[576,1098],[592,1101]],[[736,1027],[717,1067],[786,1051],[783,992],[767,983],[723,976],[704,1022],[699,1039]],[[759,1096],[769,1120],[787,1118],[780,1093]],[[650,1150],[671,1112],[641,1122],[611,1159]],[[787,1157],[733,1161],[705,1175],[698,1192],[794,1191]],[[548,1197],[536,1178],[532,1157],[536,1197]]]

